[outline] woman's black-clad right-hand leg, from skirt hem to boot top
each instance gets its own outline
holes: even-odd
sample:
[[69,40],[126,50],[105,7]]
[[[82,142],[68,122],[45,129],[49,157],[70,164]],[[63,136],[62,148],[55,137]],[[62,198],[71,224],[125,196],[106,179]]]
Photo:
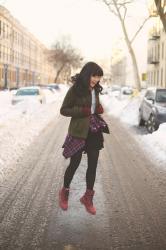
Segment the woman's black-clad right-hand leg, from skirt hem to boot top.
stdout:
[[87,152],[88,156],[88,168],[86,171],[86,185],[87,189],[93,190],[93,186],[96,178],[96,168],[99,157],[99,150],[92,149]]

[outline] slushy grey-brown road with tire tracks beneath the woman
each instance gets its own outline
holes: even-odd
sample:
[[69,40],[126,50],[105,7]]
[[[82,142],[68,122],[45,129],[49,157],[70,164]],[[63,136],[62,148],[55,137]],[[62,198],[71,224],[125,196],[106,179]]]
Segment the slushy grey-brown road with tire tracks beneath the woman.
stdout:
[[56,116],[0,187],[0,249],[166,249],[166,174],[146,159],[126,127],[106,120],[111,134],[105,135],[99,160],[97,215],[87,214],[79,202],[86,155],[71,185],[69,210],[58,208],[68,124]]

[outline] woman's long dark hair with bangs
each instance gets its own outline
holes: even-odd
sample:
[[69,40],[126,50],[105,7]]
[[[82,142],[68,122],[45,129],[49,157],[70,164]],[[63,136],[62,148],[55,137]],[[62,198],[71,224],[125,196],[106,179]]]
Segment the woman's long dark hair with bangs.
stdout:
[[[103,76],[102,68],[95,62],[86,63],[80,73],[72,77],[72,82],[74,83],[74,89],[77,95],[83,96],[89,92],[91,76]],[[103,88],[98,82],[94,89],[98,93],[101,93]]]

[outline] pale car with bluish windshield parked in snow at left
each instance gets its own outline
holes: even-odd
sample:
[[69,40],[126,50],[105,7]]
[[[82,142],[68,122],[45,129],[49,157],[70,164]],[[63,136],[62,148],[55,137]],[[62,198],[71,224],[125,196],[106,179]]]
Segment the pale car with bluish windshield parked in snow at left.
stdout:
[[45,103],[45,95],[40,87],[30,86],[19,88],[13,95],[12,104],[17,104],[23,101],[37,101]]

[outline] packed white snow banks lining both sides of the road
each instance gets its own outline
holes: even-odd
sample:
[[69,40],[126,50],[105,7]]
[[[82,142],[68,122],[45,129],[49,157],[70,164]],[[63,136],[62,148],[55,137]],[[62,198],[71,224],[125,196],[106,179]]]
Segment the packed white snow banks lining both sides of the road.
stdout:
[[[52,120],[58,119],[59,108],[68,86],[61,85],[59,91],[51,93],[45,90],[46,103],[24,102],[11,104],[12,91],[0,91],[0,180],[5,174],[13,171],[13,162],[21,156],[34,138]],[[166,163],[166,123],[152,134],[138,128],[138,107],[142,94],[137,96],[102,95],[101,101],[108,114],[118,117],[131,129],[132,135],[141,144],[148,155],[156,161],[156,165],[164,167]],[[165,164],[166,165],[166,164]]]

